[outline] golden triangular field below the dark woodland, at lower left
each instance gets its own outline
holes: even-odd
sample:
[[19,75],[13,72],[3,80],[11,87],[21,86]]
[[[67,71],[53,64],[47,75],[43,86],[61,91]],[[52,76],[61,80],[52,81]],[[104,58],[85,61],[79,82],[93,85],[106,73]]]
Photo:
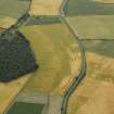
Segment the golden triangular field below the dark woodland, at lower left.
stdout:
[[9,84],[0,83],[0,114],[4,113],[30,76],[31,74],[26,75],[25,77]]

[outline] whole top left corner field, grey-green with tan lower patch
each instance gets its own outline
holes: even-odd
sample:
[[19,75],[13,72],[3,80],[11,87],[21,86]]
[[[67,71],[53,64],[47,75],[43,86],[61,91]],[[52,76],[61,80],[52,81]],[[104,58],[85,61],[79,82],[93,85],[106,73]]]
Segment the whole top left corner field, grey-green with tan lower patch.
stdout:
[[29,0],[0,0],[0,27],[13,25],[29,9]]

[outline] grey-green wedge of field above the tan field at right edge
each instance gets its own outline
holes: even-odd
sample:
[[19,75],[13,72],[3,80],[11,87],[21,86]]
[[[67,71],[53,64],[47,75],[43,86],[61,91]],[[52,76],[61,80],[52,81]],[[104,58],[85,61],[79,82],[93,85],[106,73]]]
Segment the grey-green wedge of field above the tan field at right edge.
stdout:
[[87,40],[84,45],[89,52],[114,58],[114,40]]

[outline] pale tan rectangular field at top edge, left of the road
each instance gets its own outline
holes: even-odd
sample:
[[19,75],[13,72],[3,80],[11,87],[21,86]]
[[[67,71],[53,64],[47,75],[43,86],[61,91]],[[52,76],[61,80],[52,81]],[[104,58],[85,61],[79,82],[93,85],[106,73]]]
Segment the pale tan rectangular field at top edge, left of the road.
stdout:
[[59,9],[63,0],[33,0],[30,14],[31,15],[59,15]]

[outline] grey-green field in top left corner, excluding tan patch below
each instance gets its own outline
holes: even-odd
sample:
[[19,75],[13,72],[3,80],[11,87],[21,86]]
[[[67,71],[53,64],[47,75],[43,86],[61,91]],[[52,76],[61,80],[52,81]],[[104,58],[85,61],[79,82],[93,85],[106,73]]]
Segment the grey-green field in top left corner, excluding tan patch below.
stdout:
[[29,8],[30,0],[0,0],[0,15],[21,17]]

